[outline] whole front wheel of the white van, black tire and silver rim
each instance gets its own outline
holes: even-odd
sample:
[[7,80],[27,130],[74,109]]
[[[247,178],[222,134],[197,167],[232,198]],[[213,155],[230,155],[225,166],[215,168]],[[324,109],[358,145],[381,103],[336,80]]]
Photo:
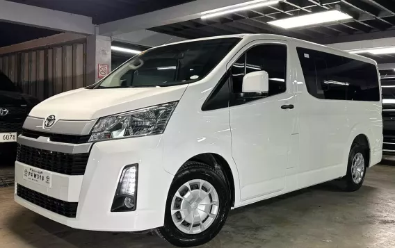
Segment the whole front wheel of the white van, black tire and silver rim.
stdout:
[[[170,185],[164,226],[156,229],[156,233],[177,247],[203,245],[222,229],[230,205],[229,188],[222,172],[204,163],[186,162]],[[184,210],[177,212],[178,208]]]

